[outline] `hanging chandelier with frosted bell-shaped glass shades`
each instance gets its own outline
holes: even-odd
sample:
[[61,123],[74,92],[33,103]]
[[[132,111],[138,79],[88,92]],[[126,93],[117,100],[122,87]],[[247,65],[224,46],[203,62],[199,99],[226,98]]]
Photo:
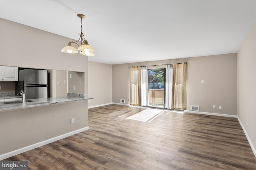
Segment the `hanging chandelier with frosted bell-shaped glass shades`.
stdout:
[[[80,51],[80,54],[82,54],[82,55],[94,56],[94,49],[92,48],[92,46],[90,46],[88,44],[88,42],[85,38],[83,39],[84,34],[82,33],[82,19],[85,18],[85,15],[84,14],[77,14],[77,16],[81,19],[81,33],[78,33],[78,35],[80,37],[77,41],[72,40],[72,42],[69,42],[66,47],[63,47],[61,49],[61,52],[69,53],[69,54],[76,54],[76,53],[78,53],[78,51]],[[78,45],[78,43],[79,43],[78,41],[81,41],[80,45]],[[78,49],[73,47],[71,45],[71,43],[74,43],[74,44],[78,45]]]

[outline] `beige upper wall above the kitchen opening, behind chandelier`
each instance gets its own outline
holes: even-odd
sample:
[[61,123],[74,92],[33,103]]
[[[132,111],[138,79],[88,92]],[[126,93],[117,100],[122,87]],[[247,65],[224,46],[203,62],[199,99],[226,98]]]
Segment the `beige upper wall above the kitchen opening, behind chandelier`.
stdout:
[[[0,18],[0,65],[48,70],[86,71],[88,57],[61,53],[70,38]],[[15,45],[13,49],[12,45]],[[28,50],[25,50],[27,49]],[[46,50],[44,50],[46,49]],[[80,62],[77,62],[80,61]]]

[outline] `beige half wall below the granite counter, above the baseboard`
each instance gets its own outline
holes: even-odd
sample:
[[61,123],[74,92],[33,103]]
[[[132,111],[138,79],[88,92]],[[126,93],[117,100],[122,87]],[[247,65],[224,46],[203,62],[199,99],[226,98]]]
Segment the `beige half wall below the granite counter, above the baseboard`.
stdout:
[[84,101],[0,112],[0,155],[87,127],[87,110]]

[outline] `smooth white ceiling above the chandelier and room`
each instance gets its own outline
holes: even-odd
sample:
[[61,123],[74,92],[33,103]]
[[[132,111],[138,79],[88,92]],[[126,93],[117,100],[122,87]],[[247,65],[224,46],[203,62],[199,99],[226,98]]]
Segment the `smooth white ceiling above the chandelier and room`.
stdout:
[[[0,18],[78,39],[89,61],[119,64],[236,53],[256,0],[0,0]],[[68,42],[63,42],[66,46]]]

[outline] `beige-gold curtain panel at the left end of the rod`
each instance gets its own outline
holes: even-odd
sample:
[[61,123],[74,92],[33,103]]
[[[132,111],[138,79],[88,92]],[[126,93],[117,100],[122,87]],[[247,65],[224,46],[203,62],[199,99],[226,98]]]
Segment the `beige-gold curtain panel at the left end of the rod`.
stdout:
[[141,106],[140,67],[130,67],[130,105]]

